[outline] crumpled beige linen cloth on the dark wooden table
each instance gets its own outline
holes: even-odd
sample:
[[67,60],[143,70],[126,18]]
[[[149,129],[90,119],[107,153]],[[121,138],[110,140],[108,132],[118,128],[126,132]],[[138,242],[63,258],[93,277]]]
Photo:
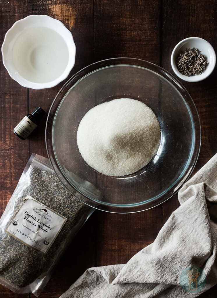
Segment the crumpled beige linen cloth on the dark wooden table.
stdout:
[[[61,298],[192,298],[215,285],[217,154],[182,187],[178,198],[181,206],[154,243],[127,264],[87,269]],[[201,268],[206,275],[200,291],[188,292],[180,285],[179,277],[189,266]]]

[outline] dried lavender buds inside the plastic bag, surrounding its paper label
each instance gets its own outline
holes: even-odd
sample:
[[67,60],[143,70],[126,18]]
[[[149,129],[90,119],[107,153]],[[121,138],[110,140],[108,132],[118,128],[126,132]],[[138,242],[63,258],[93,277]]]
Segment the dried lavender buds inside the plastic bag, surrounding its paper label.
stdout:
[[0,276],[12,285],[23,288],[50,275],[61,252],[86,220],[90,207],[69,193],[54,173],[32,165],[19,183],[13,214],[19,210],[26,196],[31,195],[67,218],[51,248],[44,254],[24,245],[4,231],[13,216],[9,212],[7,222],[0,228]]

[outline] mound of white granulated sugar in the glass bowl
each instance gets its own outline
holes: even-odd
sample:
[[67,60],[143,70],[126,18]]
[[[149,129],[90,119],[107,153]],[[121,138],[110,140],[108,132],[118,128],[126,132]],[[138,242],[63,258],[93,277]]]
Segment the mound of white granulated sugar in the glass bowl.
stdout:
[[84,115],[77,144],[89,166],[108,176],[125,176],[148,164],[159,148],[160,137],[159,122],[147,105],[120,98]]

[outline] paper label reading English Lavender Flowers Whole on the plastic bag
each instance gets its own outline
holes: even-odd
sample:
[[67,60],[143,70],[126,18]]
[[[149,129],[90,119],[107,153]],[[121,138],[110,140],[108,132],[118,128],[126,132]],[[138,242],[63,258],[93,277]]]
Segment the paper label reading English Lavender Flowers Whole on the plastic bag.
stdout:
[[67,218],[28,195],[6,232],[25,245],[47,253],[66,221]]

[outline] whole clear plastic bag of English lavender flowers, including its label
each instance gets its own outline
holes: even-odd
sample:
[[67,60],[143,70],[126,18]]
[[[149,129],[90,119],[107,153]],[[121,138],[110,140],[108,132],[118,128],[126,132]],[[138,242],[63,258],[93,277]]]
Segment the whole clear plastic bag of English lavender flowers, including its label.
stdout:
[[47,158],[33,153],[0,219],[0,283],[38,297],[93,211],[63,186]]

